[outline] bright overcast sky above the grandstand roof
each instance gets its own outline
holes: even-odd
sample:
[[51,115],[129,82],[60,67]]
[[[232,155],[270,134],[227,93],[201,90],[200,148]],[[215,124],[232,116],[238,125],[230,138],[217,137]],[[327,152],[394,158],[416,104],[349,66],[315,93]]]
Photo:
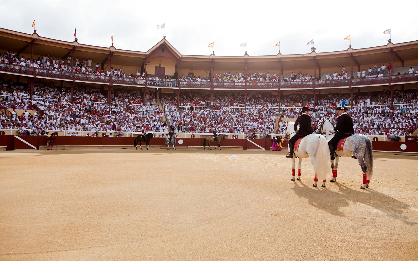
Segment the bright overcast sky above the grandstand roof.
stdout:
[[366,48],[418,40],[417,0],[398,1],[140,1],[0,0],[0,27],[79,43],[147,51],[163,38],[182,54],[241,56]]

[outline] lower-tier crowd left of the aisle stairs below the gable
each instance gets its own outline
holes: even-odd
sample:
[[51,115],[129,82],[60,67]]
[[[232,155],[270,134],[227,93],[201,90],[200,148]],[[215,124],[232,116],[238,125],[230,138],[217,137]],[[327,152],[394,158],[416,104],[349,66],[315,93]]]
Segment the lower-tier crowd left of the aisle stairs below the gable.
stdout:
[[[51,129],[66,131],[126,131],[137,132],[164,131],[162,127],[163,111],[158,106],[139,104],[141,96],[130,89],[116,89],[112,93],[112,103],[99,89],[91,86],[74,88],[73,101],[70,91],[51,84],[36,83],[33,86],[33,99],[23,86],[2,85],[0,105],[13,108],[25,105],[35,112],[27,111],[21,115],[13,109],[11,116],[1,115],[0,129]],[[149,98],[151,95],[147,94]]]

